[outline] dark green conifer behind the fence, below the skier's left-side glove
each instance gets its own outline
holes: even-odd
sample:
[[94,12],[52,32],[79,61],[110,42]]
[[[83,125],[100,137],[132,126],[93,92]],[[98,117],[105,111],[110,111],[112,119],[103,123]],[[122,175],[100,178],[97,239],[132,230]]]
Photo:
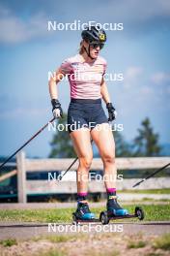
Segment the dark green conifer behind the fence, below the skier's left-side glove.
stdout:
[[53,136],[50,143],[52,148],[49,153],[49,157],[70,158],[76,156],[74,153],[73,145],[71,143],[69,132],[66,129],[60,131],[62,127],[66,127],[66,123],[67,114],[64,113],[63,118],[58,119],[56,128],[59,127],[59,129],[56,129],[56,134]]

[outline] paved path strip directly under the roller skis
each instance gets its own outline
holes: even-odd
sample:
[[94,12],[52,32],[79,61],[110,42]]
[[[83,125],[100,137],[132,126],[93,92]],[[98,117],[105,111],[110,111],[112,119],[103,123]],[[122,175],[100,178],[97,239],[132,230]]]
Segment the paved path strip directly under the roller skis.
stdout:
[[170,221],[158,222],[110,222],[109,225],[100,223],[90,223],[81,225],[71,225],[70,223],[0,223],[0,240],[15,238],[20,240],[32,239],[38,236],[77,234],[79,232],[87,233],[113,232],[117,234],[135,234],[142,232],[145,235],[161,235],[170,233]]

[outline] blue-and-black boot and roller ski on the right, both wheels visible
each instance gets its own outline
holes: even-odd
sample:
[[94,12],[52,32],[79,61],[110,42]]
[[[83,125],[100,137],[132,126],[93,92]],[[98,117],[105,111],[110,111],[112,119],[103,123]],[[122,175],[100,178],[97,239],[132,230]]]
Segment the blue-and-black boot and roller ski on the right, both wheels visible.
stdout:
[[129,214],[126,208],[121,208],[117,202],[117,197],[112,196],[111,200],[107,201],[107,209],[101,211],[99,214],[99,220],[103,225],[109,223],[110,220],[123,219],[123,218],[138,218],[144,219],[144,211],[142,208],[136,207],[133,214]]

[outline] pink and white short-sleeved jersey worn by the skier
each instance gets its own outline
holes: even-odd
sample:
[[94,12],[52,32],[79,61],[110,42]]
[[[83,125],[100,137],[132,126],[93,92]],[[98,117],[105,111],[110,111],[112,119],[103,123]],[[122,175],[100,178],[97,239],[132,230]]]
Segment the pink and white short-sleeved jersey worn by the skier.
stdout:
[[106,70],[106,61],[98,56],[93,63],[84,61],[80,54],[66,59],[61,71],[68,75],[71,85],[71,98],[74,99],[99,99],[100,84]]

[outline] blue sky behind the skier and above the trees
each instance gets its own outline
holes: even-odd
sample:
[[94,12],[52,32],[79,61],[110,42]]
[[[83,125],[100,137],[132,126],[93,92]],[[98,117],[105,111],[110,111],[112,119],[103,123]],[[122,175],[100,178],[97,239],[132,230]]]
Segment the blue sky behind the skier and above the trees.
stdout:
[[[162,0],[0,1],[0,155],[9,155],[51,118],[48,71],[77,53],[80,31],[47,31],[47,21],[124,23],[123,31],[107,31],[101,55],[117,108],[117,123],[130,141],[141,120],[151,118],[161,144],[170,143],[170,2]],[[70,86],[59,84],[66,112]],[[53,136],[47,130],[26,148],[28,156],[45,157]]]

